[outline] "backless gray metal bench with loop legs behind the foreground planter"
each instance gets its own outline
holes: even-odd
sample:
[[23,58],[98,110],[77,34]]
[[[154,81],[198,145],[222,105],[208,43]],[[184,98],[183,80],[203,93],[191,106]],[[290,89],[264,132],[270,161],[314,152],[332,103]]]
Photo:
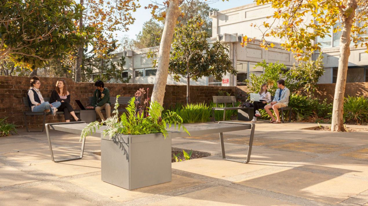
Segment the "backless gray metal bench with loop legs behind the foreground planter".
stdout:
[[[82,130],[87,126],[85,122],[61,122],[61,123],[47,123],[46,124],[46,135],[47,140],[49,141],[49,147],[50,147],[50,153],[51,153],[51,160],[54,162],[62,162],[62,161],[68,161],[72,159],[81,159],[83,158],[83,152],[84,152],[84,143],[85,139],[82,141],[81,146],[81,154],[79,157],[74,158],[68,158],[68,159],[59,159],[55,160],[54,155],[52,152],[52,143],[50,139],[50,133],[49,129],[54,129],[58,131],[64,131],[64,132],[70,132],[80,135],[82,133]],[[218,122],[218,124],[213,124],[211,122],[205,122],[201,124],[185,124],[185,128],[189,131],[191,136],[200,136],[200,135],[206,135],[206,134],[213,134],[213,133],[219,133],[220,136],[220,145],[221,145],[221,153],[222,158],[227,161],[234,161],[234,162],[241,162],[241,163],[248,163],[250,161],[251,152],[252,152],[252,145],[253,145],[253,138],[254,138],[254,129],[255,124],[250,123],[243,123],[243,122]],[[101,133],[103,130],[106,129],[106,126],[100,126],[100,129],[96,128],[96,132],[93,133],[91,136],[95,137],[101,137]],[[239,131],[239,130],[245,130],[250,129],[251,134],[249,138],[249,147],[247,151],[247,160],[246,161],[240,161],[237,159],[228,159],[225,155],[225,148],[224,148],[224,138],[223,138],[223,132],[233,132],[233,131]],[[188,137],[188,133],[184,132],[181,128],[179,131],[177,128],[171,127],[169,129],[169,132],[171,132],[171,138],[175,137]]]

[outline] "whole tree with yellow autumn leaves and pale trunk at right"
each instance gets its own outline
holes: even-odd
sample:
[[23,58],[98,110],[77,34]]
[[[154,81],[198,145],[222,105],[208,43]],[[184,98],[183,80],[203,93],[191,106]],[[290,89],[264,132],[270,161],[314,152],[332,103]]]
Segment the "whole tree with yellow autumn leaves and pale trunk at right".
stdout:
[[[258,26],[263,30],[261,47],[267,49],[273,44],[265,37],[282,38],[284,49],[292,51],[298,60],[308,60],[314,51],[321,50],[320,43],[313,43],[317,37],[342,32],[340,37],[340,58],[337,72],[335,96],[332,111],[332,131],[344,131],[343,104],[350,55],[350,43],[355,47],[367,48],[368,1],[367,0],[257,0],[257,4],[271,4],[275,9],[273,21]],[[307,20],[309,17],[311,19]],[[243,45],[249,41],[243,37]],[[366,51],[367,52],[367,51]]]

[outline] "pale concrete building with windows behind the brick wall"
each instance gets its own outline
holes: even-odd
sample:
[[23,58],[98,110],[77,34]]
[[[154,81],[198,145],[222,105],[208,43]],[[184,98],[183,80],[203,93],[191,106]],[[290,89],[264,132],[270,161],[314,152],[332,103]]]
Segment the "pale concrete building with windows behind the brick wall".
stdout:
[[[212,77],[202,77],[198,82],[191,82],[191,85],[223,85],[235,86],[241,85],[249,74],[259,75],[263,73],[262,67],[255,67],[258,62],[266,60],[266,62],[283,63],[290,68],[296,60],[293,54],[282,49],[279,43],[280,39],[268,37],[267,41],[272,41],[276,46],[264,50],[259,47],[258,43],[248,43],[246,47],[240,45],[244,35],[248,37],[261,37],[261,31],[251,26],[251,24],[260,25],[262,22],[271,22],[272,18],[267,16],[273,14],[273,9],[268,5],[256,5],[256,3],[243,5],[241,7],[231,8],[224,11],[210,12],[212,18],[212,38],[208,39],[209,43],[220,41],[229,47],[229,56],[233,62],[233,67],[237,70],[237,76],[227,74],[223,77],[223,82],[217,82]],[[313,17],[307,17],[306,21]],[[316,42],[322,44],[322,55],[325,66],[325,73],[319,79],[319,83],[335,83],[337,76],[337,67],[339,60],[339,38],[341,33],[332,33],[332,37],[316,39]],[[152,62],[147,58],[149,49],[145,48],[135,51],[124,51],[117,55],[118,60],[122,55],[125,56],[126,67],[124,75],[132,76],[130,83],[148,83],[153,84],[155,80],[156,70],[152,70]],[[368,54],[365,53],[366,48],[355,48],[351,46],[351,55],[349,58],[347,82],[364,82],[368,81]],[[314,58],[318,54],[314,55]],[[170,76],[167,78],[167,84],[186,84],[184,78],[180,82],[174,81]]]

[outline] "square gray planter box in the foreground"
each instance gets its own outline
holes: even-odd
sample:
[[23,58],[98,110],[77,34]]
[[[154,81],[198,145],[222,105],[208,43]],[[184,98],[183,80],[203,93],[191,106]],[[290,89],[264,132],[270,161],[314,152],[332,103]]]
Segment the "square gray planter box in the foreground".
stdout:
[[133,190],[171,181],[171,134],[101,137],[101,179]]

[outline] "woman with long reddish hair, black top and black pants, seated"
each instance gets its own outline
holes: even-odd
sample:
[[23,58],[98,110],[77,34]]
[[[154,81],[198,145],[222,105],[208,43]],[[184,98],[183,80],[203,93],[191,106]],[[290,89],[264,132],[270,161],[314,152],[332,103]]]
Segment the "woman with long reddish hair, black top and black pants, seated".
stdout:
[[67,82],[65,80],[58,80],[56,82],[56,89],[52,91],[50,102],[59,102],[61,106],[60,111],[64,111],[64,118],[66,122],[70,122],[70,114],[75,121],[82,121],[75,115],[73,107],[70,105],[70,94],[67,90]]

